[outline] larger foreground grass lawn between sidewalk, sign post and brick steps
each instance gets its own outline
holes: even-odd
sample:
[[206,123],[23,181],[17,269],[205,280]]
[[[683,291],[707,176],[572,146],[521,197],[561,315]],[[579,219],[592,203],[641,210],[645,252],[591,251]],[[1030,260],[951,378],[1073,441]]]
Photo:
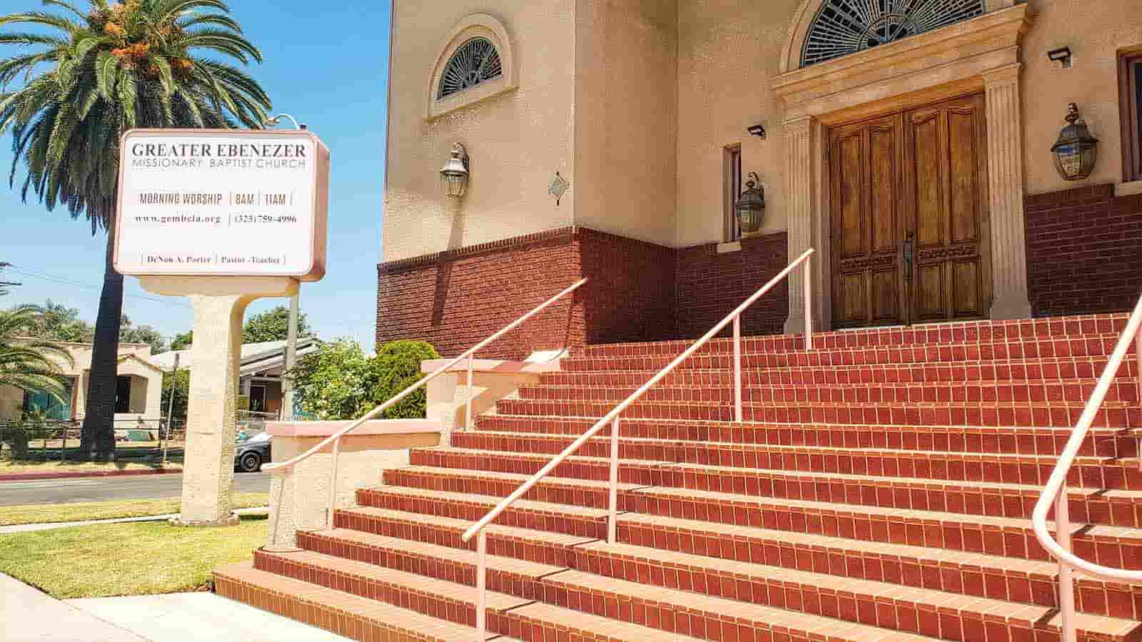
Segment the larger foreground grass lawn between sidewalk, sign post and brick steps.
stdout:
[[251,557],[268,520],[185,528],[137,522],[0,536],[0,572],[53,597],[105,597],[200,591],[219,564]]

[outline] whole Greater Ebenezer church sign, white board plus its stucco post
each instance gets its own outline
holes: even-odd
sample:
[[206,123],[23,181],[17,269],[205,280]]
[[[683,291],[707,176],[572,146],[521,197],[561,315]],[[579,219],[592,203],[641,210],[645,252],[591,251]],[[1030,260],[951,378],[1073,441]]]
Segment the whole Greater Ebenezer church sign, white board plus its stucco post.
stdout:
[[194,308],[182,513],[232,512],[242,319],[325,272],[329,150],[308,131],[137,129],[120,145],[115,268]]

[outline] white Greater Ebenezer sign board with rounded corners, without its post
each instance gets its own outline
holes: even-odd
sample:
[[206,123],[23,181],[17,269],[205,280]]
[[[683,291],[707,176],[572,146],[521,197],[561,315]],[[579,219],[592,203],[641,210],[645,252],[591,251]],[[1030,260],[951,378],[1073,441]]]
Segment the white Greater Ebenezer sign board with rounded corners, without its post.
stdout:
[[328,186],[329,150],[308,131],[128,131],[115,270],[315,281]]

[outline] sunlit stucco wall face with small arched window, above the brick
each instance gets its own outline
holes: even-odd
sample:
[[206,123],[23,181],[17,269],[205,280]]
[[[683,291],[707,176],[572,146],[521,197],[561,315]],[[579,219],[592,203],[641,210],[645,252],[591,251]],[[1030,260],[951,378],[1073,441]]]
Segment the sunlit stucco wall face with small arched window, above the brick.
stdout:
[[[428,122],[436,59],[452,27],[474,13],[507,29],[518,88]],[[573,15],[573,0],[395,2],[383,260],[571,224]],[[444,196],[439,175],[456,142],[472,159],[460,203]],[[547,193],[556,170],[571,182],[557,207]]]

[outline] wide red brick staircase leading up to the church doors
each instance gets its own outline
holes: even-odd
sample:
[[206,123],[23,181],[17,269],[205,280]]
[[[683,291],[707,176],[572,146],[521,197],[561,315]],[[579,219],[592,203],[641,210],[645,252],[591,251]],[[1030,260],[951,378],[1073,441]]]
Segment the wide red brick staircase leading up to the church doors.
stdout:
[[[1125,315],[715,340],[486,529],[489,639],[1057,642],[1039,487]],[[482,517],[685,347],[589,346],[360,489],[219,594],[356,640],[473,640]],[[1073,546],[1142,569],[1136,362],[1069,480]],[[1076,578],[1079,640],[1142,641],[1142,586]],[[499,635],[499,636],[498,636]]]

